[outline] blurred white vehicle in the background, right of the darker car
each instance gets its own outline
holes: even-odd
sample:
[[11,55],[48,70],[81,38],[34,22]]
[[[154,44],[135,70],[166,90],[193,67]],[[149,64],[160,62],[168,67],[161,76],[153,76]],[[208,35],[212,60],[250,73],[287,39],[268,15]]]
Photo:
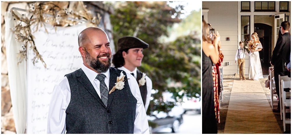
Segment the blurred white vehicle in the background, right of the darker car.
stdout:
[[198,97],[184,97],[182,103],[183,109],[186,111],[197,111],[201,114],[201,98]]

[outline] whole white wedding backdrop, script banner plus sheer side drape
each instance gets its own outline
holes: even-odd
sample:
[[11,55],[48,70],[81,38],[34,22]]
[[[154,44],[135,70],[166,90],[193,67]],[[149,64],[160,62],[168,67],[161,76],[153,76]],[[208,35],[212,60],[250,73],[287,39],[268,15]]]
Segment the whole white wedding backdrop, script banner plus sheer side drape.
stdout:
[[[17,12],[17,11],[15,11]],[[8,77],[16,132],[23,134],[46,134],[48,107],[54,85],[58,84],[65,74],[81,67],[82,58],[78,51],[78,35],[86,24],[71,27],[55,28],[46,24],[35,33],[35,45],[42,55],[47,68],[39,61],[33,65],[32,49],[27,50],[27,61],[19,65],[17,53],[23,43],[15,40],[11,31],[17,21],[11,13],[5,13],[5,44],[7,51]],[[36,26],[31,26],[35,31]]]

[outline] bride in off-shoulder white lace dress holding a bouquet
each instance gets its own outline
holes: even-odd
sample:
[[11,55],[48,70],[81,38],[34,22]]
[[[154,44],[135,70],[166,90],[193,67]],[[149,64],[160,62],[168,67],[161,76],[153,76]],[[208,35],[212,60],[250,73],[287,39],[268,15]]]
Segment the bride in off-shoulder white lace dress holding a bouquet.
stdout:
[[251,34],[251,38],[256,42],[255,50],[248,49],[249,52],[249,79],[250,80],[258,80],[263,77],[262,65],[260,64],[260,55],[258,51],[262,50],[263,46],[259,41],[258,34],[256,32]]

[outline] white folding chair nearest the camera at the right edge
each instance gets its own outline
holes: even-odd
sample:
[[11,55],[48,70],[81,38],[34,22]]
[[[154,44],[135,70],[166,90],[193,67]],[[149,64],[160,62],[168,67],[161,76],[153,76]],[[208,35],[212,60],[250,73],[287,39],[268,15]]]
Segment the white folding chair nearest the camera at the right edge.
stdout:
[[[286,124],[291,124],[291,118],[286,119],[286,113],[291,113],[291,92],[284,91],[284,88],[291,88],[291,81],[283,81],[281,80],[281,93],[282,93],[282,112],[283,112],[283,126],[284,132],[286,131]],[[289,99],[286,99],[289,98]],[[290,109],[286,109],[290,107]]]

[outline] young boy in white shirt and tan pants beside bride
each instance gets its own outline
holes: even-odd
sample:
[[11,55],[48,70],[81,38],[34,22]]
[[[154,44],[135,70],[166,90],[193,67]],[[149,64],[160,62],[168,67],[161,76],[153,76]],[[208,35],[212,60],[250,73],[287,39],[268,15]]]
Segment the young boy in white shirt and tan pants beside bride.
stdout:
[[244,43],[242,41],[239,42],[240,48],[236,51],[235,55],[235,63],[238,61],[238,68],[239,68],[239,81],[246,80],[244,77],[244,64],[245,60],[244,57],[245,55],[248,55],[248,52],[243,48]]

